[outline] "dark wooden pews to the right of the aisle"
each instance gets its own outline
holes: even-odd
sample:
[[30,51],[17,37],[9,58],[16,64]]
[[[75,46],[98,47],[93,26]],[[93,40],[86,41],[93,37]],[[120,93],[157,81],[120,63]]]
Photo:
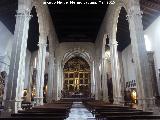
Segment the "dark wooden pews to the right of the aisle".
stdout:
[[97,120],[160,120],[160,115],[152,111],[143,111],[129,106],[111,105],[99,100],[83,101],[86,108]]

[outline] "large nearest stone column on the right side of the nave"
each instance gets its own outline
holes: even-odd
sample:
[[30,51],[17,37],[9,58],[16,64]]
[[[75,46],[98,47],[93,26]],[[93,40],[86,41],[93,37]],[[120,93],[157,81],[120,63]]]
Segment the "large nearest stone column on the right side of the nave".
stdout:
[[[147,99],[151,99],[153,97],[153,89],[147,52],[145,49],[142,12],[140,11],[139,0],[132,1],[130,5],[127,17],[129,21],[133,58],[136,65],[137,93],[139,105],[142,104],[141,107],[147,109],[151,102]],[[142,102],[142,99],[145,99],[145,101]]]

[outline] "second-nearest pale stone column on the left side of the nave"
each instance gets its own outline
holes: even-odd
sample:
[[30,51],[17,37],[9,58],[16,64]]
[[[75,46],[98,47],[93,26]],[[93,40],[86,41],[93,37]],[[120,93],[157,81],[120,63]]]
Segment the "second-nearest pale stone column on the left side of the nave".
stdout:
[[37,76],[36,76],[36,105],[43,105],[43,87],[44,87],[44,71],[45,71],[45,57],[46,57],[46,34],[40,35],[39,50],[38,50],[38,63],[37,63]]

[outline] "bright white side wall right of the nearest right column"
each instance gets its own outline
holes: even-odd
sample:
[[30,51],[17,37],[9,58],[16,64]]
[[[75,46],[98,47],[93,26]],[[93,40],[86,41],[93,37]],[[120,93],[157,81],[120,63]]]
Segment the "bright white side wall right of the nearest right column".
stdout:
[[158,17],[145,31],[145,39],[151,43],[151,50],[154,52],[155,70],[157,75],[157,83],[160,92],[160,78],[158,69],[160,69],[160,17]]

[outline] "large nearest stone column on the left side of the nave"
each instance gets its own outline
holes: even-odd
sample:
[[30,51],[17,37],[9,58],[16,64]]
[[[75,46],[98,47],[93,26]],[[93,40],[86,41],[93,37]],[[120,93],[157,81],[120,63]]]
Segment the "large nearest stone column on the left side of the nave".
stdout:
[[30,18],[31,15],[29,9],[19,9],[17,11],[9,77],[7,82],[7,90],[5,91],[5,110],[11,110],[14,113],[21,109]]

